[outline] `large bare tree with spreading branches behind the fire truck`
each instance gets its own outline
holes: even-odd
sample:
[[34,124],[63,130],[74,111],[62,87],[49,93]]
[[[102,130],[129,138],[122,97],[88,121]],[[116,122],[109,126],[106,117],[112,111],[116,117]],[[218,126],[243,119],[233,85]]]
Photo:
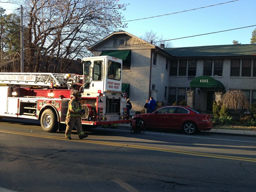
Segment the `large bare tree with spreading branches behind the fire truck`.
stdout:
[[[86,48],[125,28],[118,0],[25,0],[24,48],[27,71],[65,72]],[[24,66],[25,69],[25,66]]]

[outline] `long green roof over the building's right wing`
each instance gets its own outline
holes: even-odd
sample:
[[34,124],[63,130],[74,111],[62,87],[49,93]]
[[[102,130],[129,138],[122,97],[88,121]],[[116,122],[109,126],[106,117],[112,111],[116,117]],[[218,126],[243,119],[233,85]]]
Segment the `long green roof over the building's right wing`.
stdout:
[[256,56],[256,44],[163,48],[174,57]]

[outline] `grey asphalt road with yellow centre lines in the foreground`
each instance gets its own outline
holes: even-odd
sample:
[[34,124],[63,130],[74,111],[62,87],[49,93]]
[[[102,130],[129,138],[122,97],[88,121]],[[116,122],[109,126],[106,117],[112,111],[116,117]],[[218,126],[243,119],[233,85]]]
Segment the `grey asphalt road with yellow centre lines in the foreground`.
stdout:
[[96,128],[88,138],[0,122],[0,188],[39,191],[255,191],[255,137]]

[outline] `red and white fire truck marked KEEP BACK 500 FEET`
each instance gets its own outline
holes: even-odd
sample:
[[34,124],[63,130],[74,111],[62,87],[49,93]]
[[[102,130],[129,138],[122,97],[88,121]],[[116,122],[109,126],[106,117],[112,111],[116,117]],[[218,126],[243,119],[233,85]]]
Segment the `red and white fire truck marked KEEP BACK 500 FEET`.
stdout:
[[[59,73],[0,73],[0,119],[40,120],[45,132],[64,129],[74,90],[80,99],[82,124],[89,127],[127,123],[126,93],[122,92],[122,60],[83,58],[83,75]],[[87,126],[86,126],[87,127]]]

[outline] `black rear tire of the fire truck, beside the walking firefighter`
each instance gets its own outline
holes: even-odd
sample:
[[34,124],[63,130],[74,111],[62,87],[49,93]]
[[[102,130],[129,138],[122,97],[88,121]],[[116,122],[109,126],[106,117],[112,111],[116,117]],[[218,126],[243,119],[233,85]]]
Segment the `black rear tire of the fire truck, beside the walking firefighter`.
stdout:
[[41,127],[44,132],[56,132],[58,130],[57,117],[51,109],[45,109],[41,116]]

